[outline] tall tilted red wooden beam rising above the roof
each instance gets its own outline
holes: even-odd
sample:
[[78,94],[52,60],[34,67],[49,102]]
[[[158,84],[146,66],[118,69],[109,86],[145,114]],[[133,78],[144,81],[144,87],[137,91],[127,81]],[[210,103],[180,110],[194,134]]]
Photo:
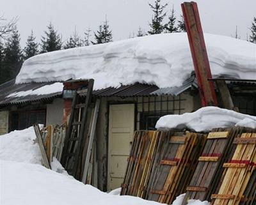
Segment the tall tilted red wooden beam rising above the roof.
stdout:
[[200,22],[197,4],[193,1],[181,4],[189,46],[195,67],[196,79],[202,107],[218,106],[211,69],[204,42],[204,33]]

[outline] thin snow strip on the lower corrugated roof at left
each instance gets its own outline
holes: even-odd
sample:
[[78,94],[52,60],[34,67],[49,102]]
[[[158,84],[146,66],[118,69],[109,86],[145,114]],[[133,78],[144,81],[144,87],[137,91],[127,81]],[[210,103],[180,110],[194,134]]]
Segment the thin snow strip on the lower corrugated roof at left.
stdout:
[[63,83],[55,82],[54,84],[39,87],[38,89],[34,89],[34,90],[29,89],[28,91],[14,92],[6,96],[6,98],[23,97],[28,95],[48,95],[51,93],[60,93],[62,91],[63,91]]

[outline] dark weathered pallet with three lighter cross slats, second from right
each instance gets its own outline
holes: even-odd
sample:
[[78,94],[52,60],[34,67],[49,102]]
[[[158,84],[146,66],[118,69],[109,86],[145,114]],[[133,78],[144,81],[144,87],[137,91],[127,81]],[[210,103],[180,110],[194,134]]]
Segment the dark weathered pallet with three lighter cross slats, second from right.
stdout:
[[193,178],[186,188],[183,205],[187,204],[189,199],[211,199],[211,194],[216,190],[223,173],[222,165],[232,152],[232,141],[242,132],[243,128],[216,128],[209,133]]

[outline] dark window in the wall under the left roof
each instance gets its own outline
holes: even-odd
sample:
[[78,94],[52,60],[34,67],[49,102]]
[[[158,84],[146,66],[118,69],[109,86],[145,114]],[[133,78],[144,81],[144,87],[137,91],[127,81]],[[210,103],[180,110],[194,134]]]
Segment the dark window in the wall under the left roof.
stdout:
[[11,113],[10,118],[10,131],[23,130],[35,123],[45,125],[45,110],[26,110],[26,111],[15,111]]

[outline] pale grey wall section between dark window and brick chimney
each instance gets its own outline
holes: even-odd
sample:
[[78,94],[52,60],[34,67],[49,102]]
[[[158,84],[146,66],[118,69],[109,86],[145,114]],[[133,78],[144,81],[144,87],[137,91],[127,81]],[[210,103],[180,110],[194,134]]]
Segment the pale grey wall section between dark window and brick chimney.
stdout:
[[62,98],[55,98],[52,103],[46,105],[46,125],[61,125],[63,119]]

